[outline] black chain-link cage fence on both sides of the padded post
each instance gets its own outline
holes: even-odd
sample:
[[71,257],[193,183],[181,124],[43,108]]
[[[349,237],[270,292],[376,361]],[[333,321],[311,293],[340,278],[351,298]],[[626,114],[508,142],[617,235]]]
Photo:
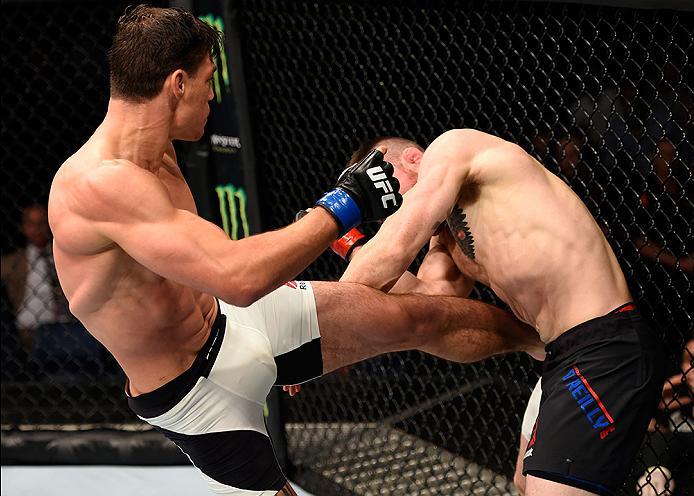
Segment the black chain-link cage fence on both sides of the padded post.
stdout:
[[[2,5],[4,437],[47,425],[138,430],[122,372],[67,312],[50,251],[28,248],[45,236],[57,166],[106,110],[106,50],[127,3]],[[691,13],[412,0],[235,7],[264,228],[289,223],[364,139],[426,145],[470,127],[518,143],[586,203],[668,350],[674,379],[622,493],[667,475],[665,490],[694,494],[691,391],[677,385],[692,368]],[[343,269],[326,254],[303,278]],[[482,287],[473,296],[500,304]],[[291,475],[320,496],[516,494],[538,371],[520,354],[460,365],[407,352],[314,381],[282,402]]]

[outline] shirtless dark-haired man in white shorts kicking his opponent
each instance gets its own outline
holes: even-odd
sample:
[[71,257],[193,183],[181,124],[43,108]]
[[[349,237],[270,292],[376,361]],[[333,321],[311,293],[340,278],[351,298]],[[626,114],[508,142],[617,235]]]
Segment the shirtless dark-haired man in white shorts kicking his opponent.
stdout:
[[53,253],[72,313],[122,366],[135,413],[214,491],[291,495],[264,425],[274,383],[392,350],[467,361],[539,340],[479,302],[285,285],[340,233],[399,206],[381,152],[285,229],[232,241],[199,218],[171,140],[203,135],[219,43],[182,10],[138,6],[121,17],[106,117],[51,187]]

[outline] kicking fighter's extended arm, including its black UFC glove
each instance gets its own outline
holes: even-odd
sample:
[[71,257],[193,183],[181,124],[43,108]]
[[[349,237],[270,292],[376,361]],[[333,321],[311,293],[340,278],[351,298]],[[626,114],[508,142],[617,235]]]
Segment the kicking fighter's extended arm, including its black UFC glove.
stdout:
[[305,219],[240,241],[200,219],[194,206],[177,208],[155,174],[127,160],[86,173],[69,203],[94,228],[97,250],[115,243],[166,279],[247,306],[296,276],[338,233],[394,212],[402,202],[398,189],[393,167],[373,150],[341,174]]

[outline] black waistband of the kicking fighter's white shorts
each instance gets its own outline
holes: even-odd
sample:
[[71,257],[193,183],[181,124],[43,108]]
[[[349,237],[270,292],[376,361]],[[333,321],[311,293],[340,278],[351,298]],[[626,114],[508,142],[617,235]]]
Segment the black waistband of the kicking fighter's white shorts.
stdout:
[[217,318],[212,323],[210,335],[190,368],[154,391],[128,397],[130,409],[144,418],[157,417],[171,410],[193,389],[200,377],[210,374],[224,340],[225,326],[226,317],[217,305]]

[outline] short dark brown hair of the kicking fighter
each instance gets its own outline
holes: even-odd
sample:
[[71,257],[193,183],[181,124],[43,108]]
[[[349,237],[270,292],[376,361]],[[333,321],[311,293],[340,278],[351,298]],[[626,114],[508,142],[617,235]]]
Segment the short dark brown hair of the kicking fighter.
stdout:
[[222,33],[188,11],[128,7],[109,51],[111,96],[152,99],[169,74],[183,69],[194,75],[206,56],[216,59],[221,46]]

